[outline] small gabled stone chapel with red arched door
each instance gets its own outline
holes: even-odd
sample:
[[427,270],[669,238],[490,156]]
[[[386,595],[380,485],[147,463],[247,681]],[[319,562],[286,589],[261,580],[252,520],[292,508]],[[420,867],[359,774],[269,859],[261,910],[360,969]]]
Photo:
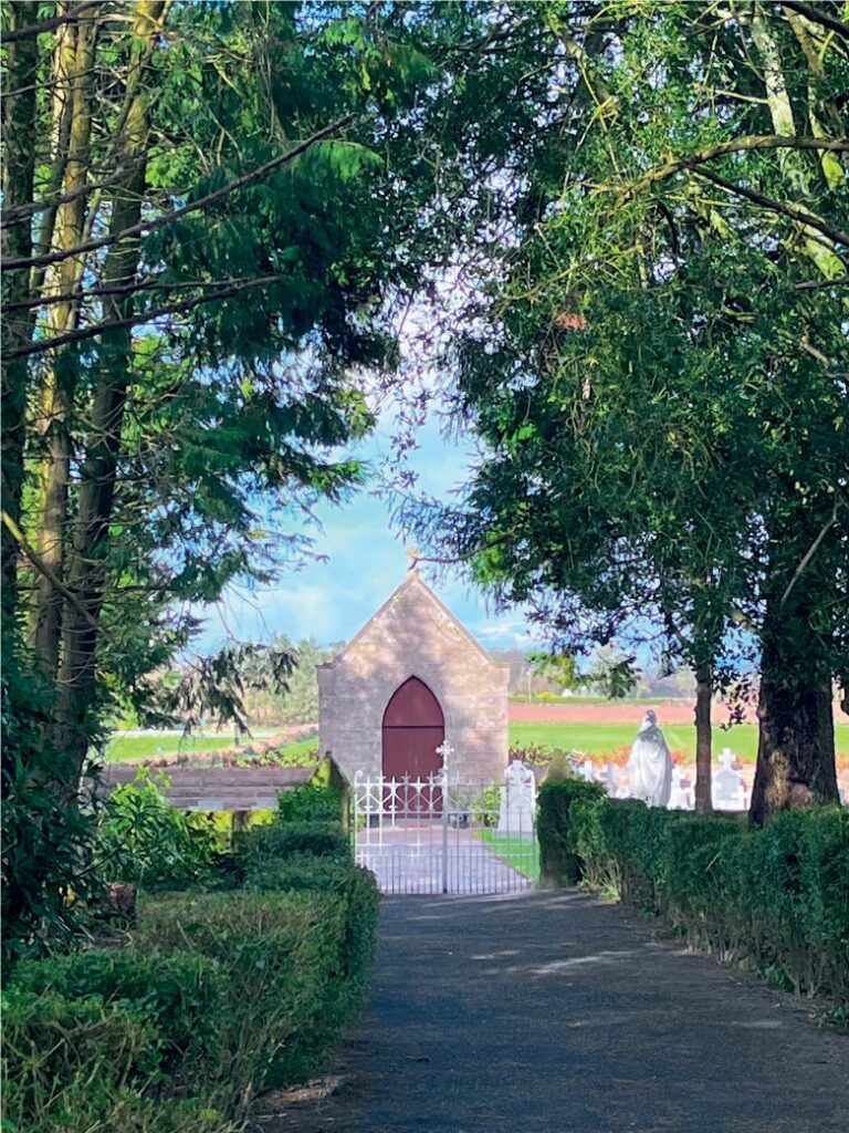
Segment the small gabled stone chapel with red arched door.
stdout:
[[318,666],[319,746],[353,778],[449,772],[500,780],[509,665],[494,661],[417,570],[345,648]]

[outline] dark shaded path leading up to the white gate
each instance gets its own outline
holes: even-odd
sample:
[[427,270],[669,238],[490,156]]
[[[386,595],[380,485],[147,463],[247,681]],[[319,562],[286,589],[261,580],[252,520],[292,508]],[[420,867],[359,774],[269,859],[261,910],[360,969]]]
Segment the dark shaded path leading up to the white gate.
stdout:
[[273,1133],[846,1133],[849,1039],[573,893],[387,898],[344,1085]]

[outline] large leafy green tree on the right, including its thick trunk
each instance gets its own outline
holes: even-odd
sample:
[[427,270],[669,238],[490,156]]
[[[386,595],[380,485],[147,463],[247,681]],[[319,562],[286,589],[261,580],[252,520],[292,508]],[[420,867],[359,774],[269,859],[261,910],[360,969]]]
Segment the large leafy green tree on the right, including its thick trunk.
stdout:
[[779,6],[711,11],[515,6],[451,88],[474,142],[440,155],[471,280],[446,365],[482,451],[460,502],[404,514],[558,655],[769,671],[763,811],[782,761],[837,796],[806,704],[849,666],[849,196],[815,140],[847,135],[847,63]]

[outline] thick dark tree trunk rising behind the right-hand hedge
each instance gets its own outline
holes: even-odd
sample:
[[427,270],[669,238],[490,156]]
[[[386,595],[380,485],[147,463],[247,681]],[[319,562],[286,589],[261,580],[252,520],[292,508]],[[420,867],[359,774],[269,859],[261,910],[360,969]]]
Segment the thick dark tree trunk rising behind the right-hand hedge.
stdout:
[[749,821],[781,810],[837,802],[831,680],[816,672],[804,645],[812,638],[804,607],[767,603],[761,653],[757,768]]

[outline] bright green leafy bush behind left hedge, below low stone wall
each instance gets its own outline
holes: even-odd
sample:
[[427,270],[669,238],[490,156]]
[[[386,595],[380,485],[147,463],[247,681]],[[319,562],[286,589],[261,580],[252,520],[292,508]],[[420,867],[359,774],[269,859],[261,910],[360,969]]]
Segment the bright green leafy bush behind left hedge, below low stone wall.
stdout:
[[217,849],[212,824],[171,807],[163,776],[143,769],[112,792],[97,832],[102,872],[149,891],[179,889],[209,876]]

